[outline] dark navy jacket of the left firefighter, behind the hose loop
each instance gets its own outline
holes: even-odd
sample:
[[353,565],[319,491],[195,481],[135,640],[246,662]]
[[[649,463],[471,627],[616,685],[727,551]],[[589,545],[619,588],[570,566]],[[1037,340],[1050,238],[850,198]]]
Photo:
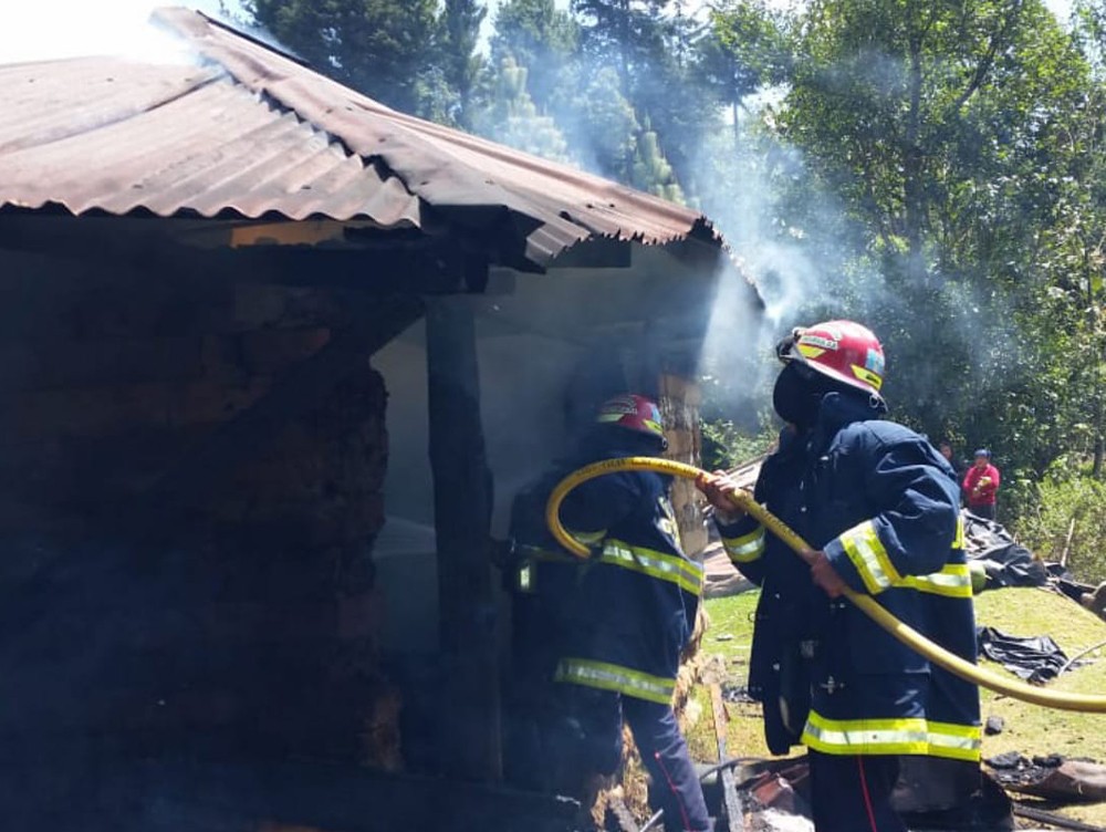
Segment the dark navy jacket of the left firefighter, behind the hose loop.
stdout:
[[[538,490],[547,493],[587,462],[630,455],[611,449],[577,459],[543,479]],[[536,510],[543,501],[531,500],[534,507],[526,517],[515,512],[517,551],[535,557],[539,591],[549,591],[550,584],[543,583],[549,575],[559,596],[559,680],[661,704],[671,700],[680,652],[695,624],[702,570],[680,549],[668,486],[669,478],[657,474],[626,472],[593,479],[572,491],[561,517],[592,549],[588,559],[576,559],[553,541]],[[552,557],[543,559],[542,552]],[[573,559],[571,591],[565,590],[564,558]]]

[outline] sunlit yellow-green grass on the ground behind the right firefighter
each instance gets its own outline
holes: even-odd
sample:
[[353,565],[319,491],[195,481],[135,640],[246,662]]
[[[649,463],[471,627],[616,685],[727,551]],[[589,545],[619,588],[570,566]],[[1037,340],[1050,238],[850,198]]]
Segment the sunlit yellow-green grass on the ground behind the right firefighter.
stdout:
[[[714,674],[723,685],[743,686],[748,676],[752,641],[752,614],[758,594],[744,593],[707,602],[710,628],[702,639],[702,651],[712,657]],[[1036,589],[1004,589],[984,592],[975,599],[975,616],[981,625],[993,626],[1010,635],[1050,635],[1068,656],[1106,641],[1106,622],[1075,602],[1053,592]],[[1071,670],[1048,684],[1050,689],[1106,695],[1106,648],[1091,654],[1091,664]],[[1010,675],[1000,665],[981,663],[989,670]],[[709,678],[708,680],[716,680]],[[689,730],[688,742],[696,759],[718,759],[711,718],[710,694],[699,686],[692,695],[701,718]],[[1027,757],[1053,752],[1065,757],[1085,757],[1106,761],[1106,714],[1078,714],[1050,710],[981,691],[983,717],[999,716],[1004,730],[984,737],[983,756],[1019,751]],[[727,746],[732,756],[768,757],[761,728],[760,706],[727,703],[730,721]],[[1106,803],[1051,809],[1065,817],[1106,826]]]

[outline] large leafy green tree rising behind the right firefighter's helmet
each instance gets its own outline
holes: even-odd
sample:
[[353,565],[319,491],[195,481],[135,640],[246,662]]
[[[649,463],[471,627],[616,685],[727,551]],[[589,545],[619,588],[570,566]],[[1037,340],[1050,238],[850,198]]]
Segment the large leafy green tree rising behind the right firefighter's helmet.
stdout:
[[818,0],[778,119],[865,231],[852,274],[881,279],[832,291],[910,368],[890,374],[893,398],[1037,472],[1065,410],[1046,383],[1056,353],[1025,334],[1045,331],[1041,232],[1063,176],[1048,148],[1085,77],[1039,0]]

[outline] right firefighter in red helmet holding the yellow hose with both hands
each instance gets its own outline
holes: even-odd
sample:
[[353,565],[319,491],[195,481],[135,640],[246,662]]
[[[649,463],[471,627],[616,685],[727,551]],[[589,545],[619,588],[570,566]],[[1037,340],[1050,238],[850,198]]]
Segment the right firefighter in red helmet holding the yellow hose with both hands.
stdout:
[[924,437],[883,418],[884,351],[869,330],[820,323],[776,354],[773,405],[786,427],[754,496],[816,549],[804,562],[735,512],[723,474],[699,480],[731,560],[761,585],[749,691],[773,753],[810,750],[818,832],[898,832],[901,762],[963,761],[978,784],[979,691],[841,595],[870,594],[975,661],[956,476]]

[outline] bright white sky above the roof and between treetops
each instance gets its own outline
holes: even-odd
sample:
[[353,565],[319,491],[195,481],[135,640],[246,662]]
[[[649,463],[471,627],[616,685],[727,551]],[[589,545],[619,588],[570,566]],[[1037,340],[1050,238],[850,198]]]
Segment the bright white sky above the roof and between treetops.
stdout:
[[[500,0],[489,0],[488,23]],[[706,0],[702,0],[706,2]],[[1047,0],[1066,20],[1071,0]],[[158,6],[187,6],[212,15],[219,0],[0,0],[0,63],[114,54],[158,58],[173,44],[146,25]],[[226,0],[240,11],[238,0]],[[568,0],[557,0],[567,7]]]

